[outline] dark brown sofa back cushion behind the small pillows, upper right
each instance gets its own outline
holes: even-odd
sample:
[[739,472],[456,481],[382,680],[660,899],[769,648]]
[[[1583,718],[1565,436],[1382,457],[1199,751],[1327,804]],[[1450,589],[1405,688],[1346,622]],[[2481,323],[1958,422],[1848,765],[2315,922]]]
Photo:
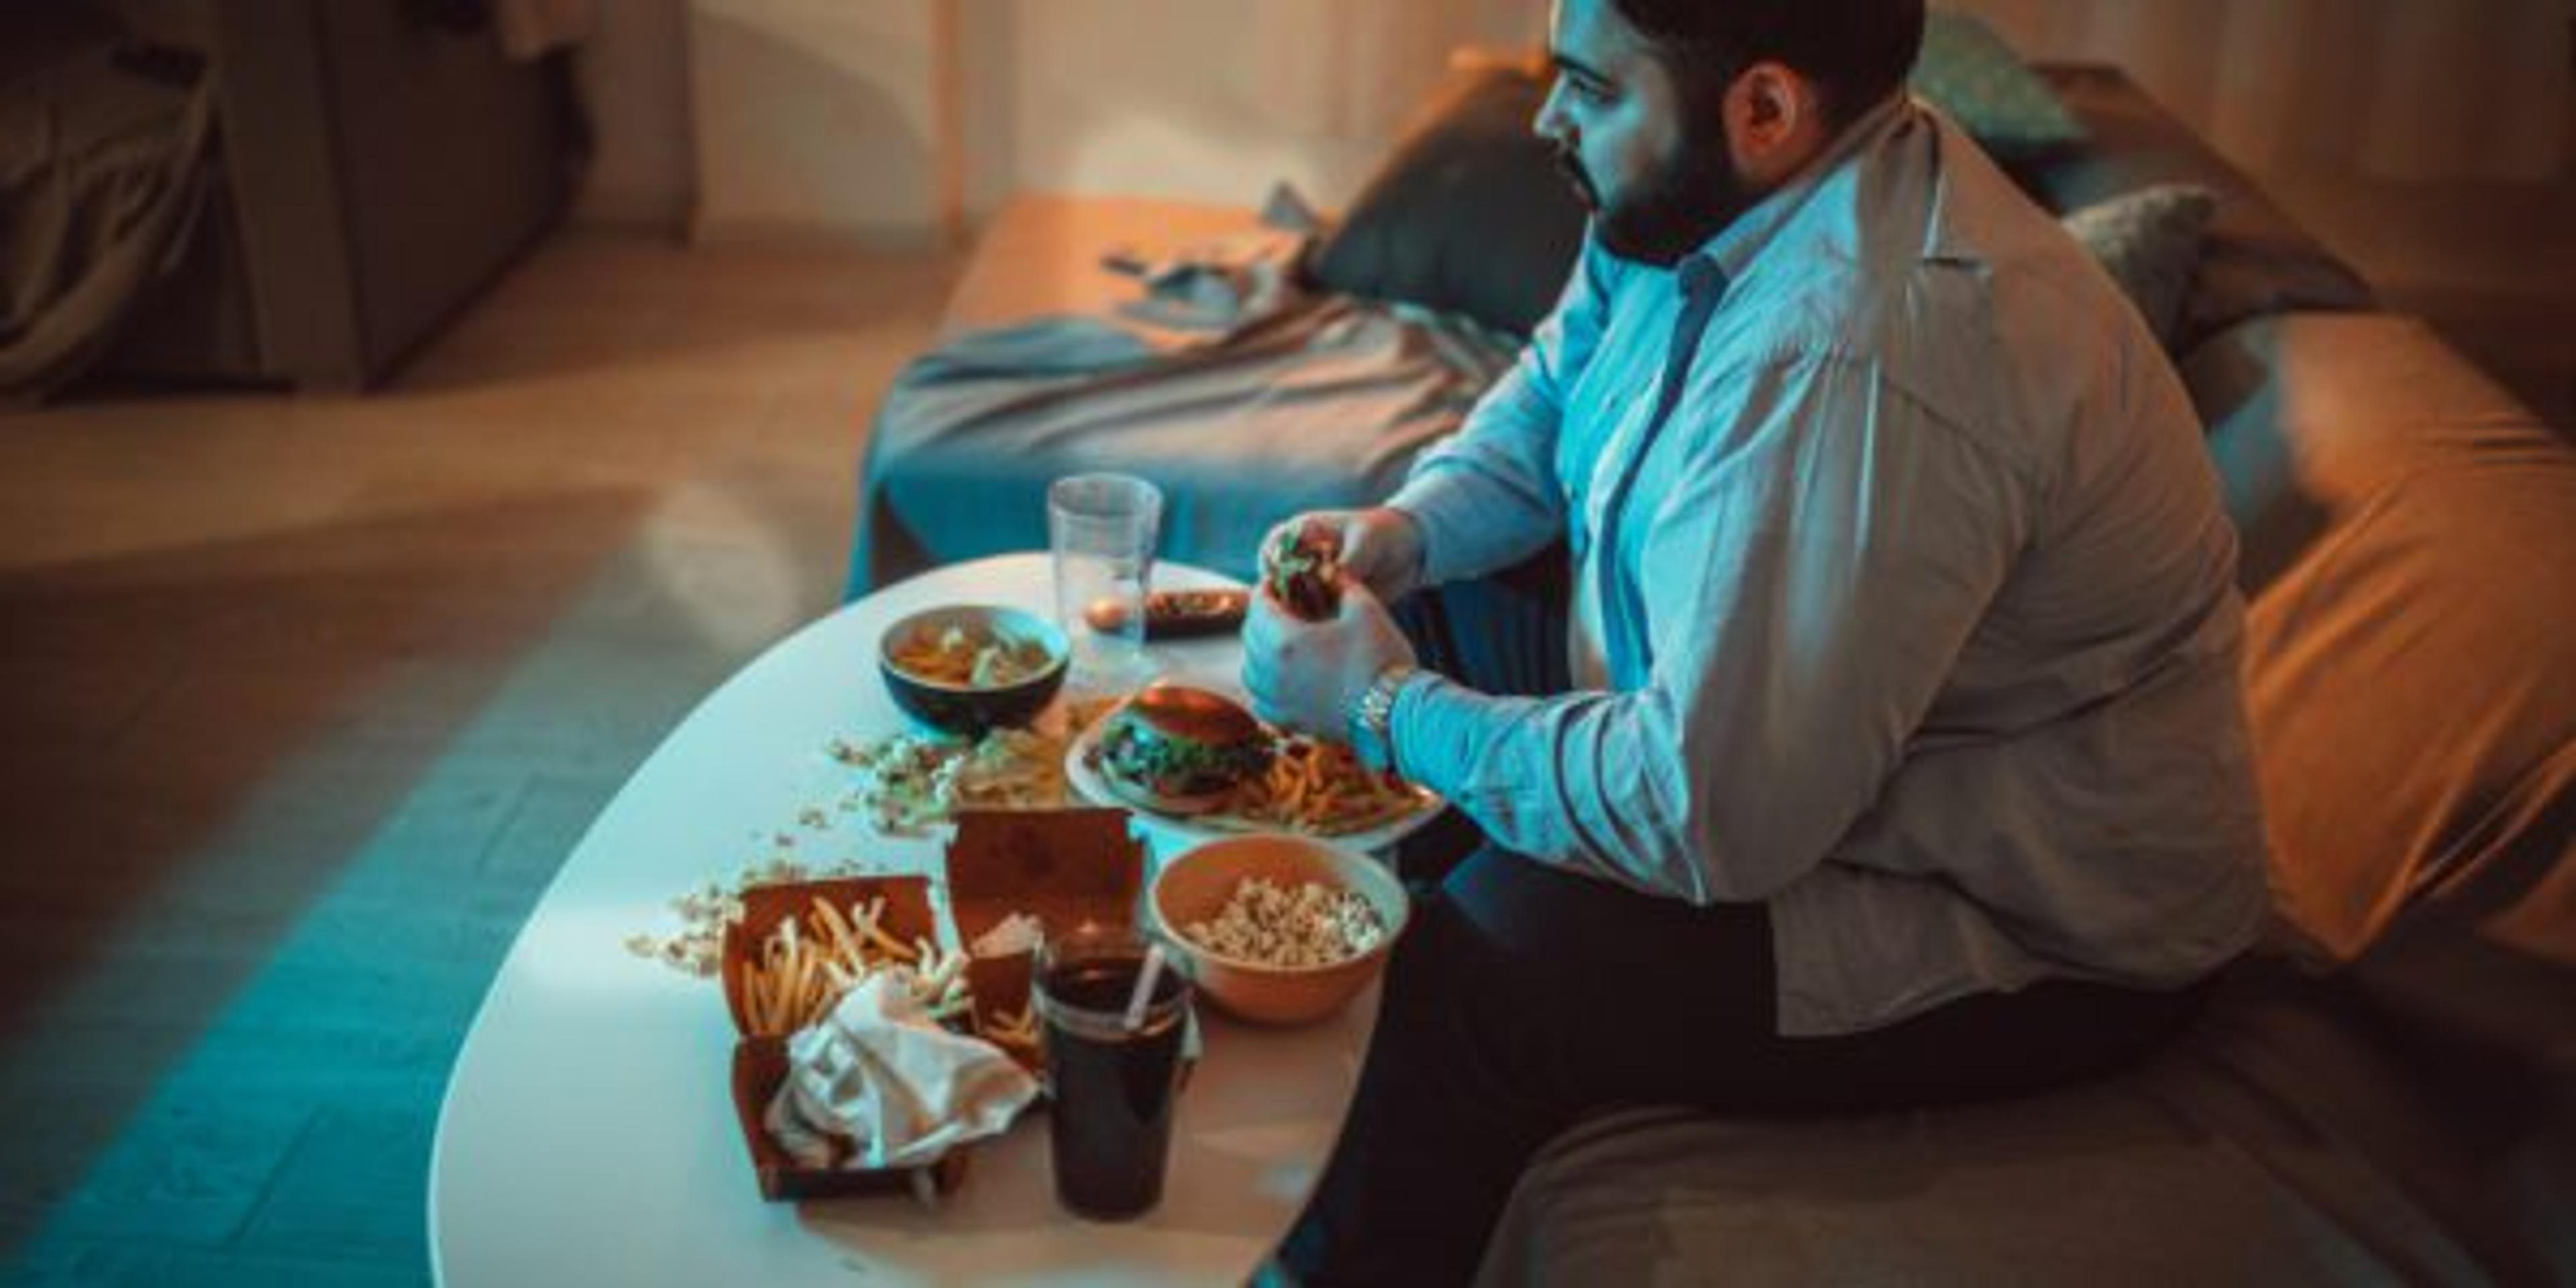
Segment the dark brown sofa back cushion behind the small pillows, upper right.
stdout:
[[2040,157],[2007,157],[2007,170],[2043,206],[2076,211],[2156,183],[2218,193],[2200,250],[2200,273],[2182,304],[2174,350],[2257,314],[2290,309],[2367,309],[2370,286],[2285,216],[2241,170],[2190,126],[2156,106],[2115,67],[2040,67],[2089,142]]

